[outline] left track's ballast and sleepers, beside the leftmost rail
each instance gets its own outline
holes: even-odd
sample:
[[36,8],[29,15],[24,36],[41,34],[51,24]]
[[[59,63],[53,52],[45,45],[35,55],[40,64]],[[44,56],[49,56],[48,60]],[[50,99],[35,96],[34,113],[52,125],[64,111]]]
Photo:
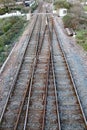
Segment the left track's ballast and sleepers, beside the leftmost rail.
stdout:
[[37,55],[41,28],[41,16],[36,16],[29,44],[26,48],[23,61],[18,72],[17,79],[12,85],[5,107],[0,117],[0,129],[15,129],[15,123],[20,115],[21,106],[24,102],[32,75],[34,59]]

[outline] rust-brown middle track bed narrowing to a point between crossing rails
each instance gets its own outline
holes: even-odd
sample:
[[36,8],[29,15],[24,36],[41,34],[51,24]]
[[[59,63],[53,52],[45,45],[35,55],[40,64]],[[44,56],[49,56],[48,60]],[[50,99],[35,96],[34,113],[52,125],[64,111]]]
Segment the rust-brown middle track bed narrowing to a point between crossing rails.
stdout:
[[[40,54],[35,59],[29,92],[27,93],[17,130],[44,128],[46,87],[50,48],[47,31]],[[21,120],[22,119],[22,120]]]

